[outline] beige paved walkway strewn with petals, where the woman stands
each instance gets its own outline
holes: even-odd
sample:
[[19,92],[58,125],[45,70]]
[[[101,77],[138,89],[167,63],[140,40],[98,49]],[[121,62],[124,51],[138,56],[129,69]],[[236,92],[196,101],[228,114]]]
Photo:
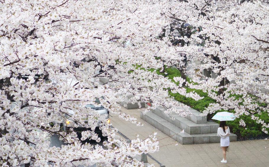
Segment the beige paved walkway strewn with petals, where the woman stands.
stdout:
[[[166,167],[269,167],[269,148],[267,148],[269,139],[231,142],[230,151],[227,153],[228,163],[223,164],[220,162],[222,152],[219,143],[181,145],[142,120],[137,109],[127,110],[122,107],[121,111],[137,118],[137,121],[144,126],[136,126],[124,121],[116,114],[111,114],[112,125],[130,139],[136,138],[136,134],[139,138],[146,138],[153,132],[157,132],[156,137],[162,139],[159,142],[160,150],[150,154]],[[175,146],[176,143],[178,143],[177,146]],[[150,158],[148,161],[158,167],[155,161]]]

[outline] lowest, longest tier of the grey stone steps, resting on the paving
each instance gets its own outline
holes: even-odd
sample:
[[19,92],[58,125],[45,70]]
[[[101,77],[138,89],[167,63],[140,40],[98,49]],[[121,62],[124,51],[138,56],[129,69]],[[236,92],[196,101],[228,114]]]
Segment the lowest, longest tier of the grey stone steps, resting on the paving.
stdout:
[[[182,129],[176,127],[172,123],[164,120],[152,112],[147,112],[145,115],[140,112],[140,118],[148,122],[150,125],[159,129],[166,135],[170,136],[174,140],[181,144],[201,144],[201,143],[219,143],[220,137],[217,133],[205,133],[205,134],[189,134],[180,133]],[[230,141],[236,141],[236,135],[231,133]]]

